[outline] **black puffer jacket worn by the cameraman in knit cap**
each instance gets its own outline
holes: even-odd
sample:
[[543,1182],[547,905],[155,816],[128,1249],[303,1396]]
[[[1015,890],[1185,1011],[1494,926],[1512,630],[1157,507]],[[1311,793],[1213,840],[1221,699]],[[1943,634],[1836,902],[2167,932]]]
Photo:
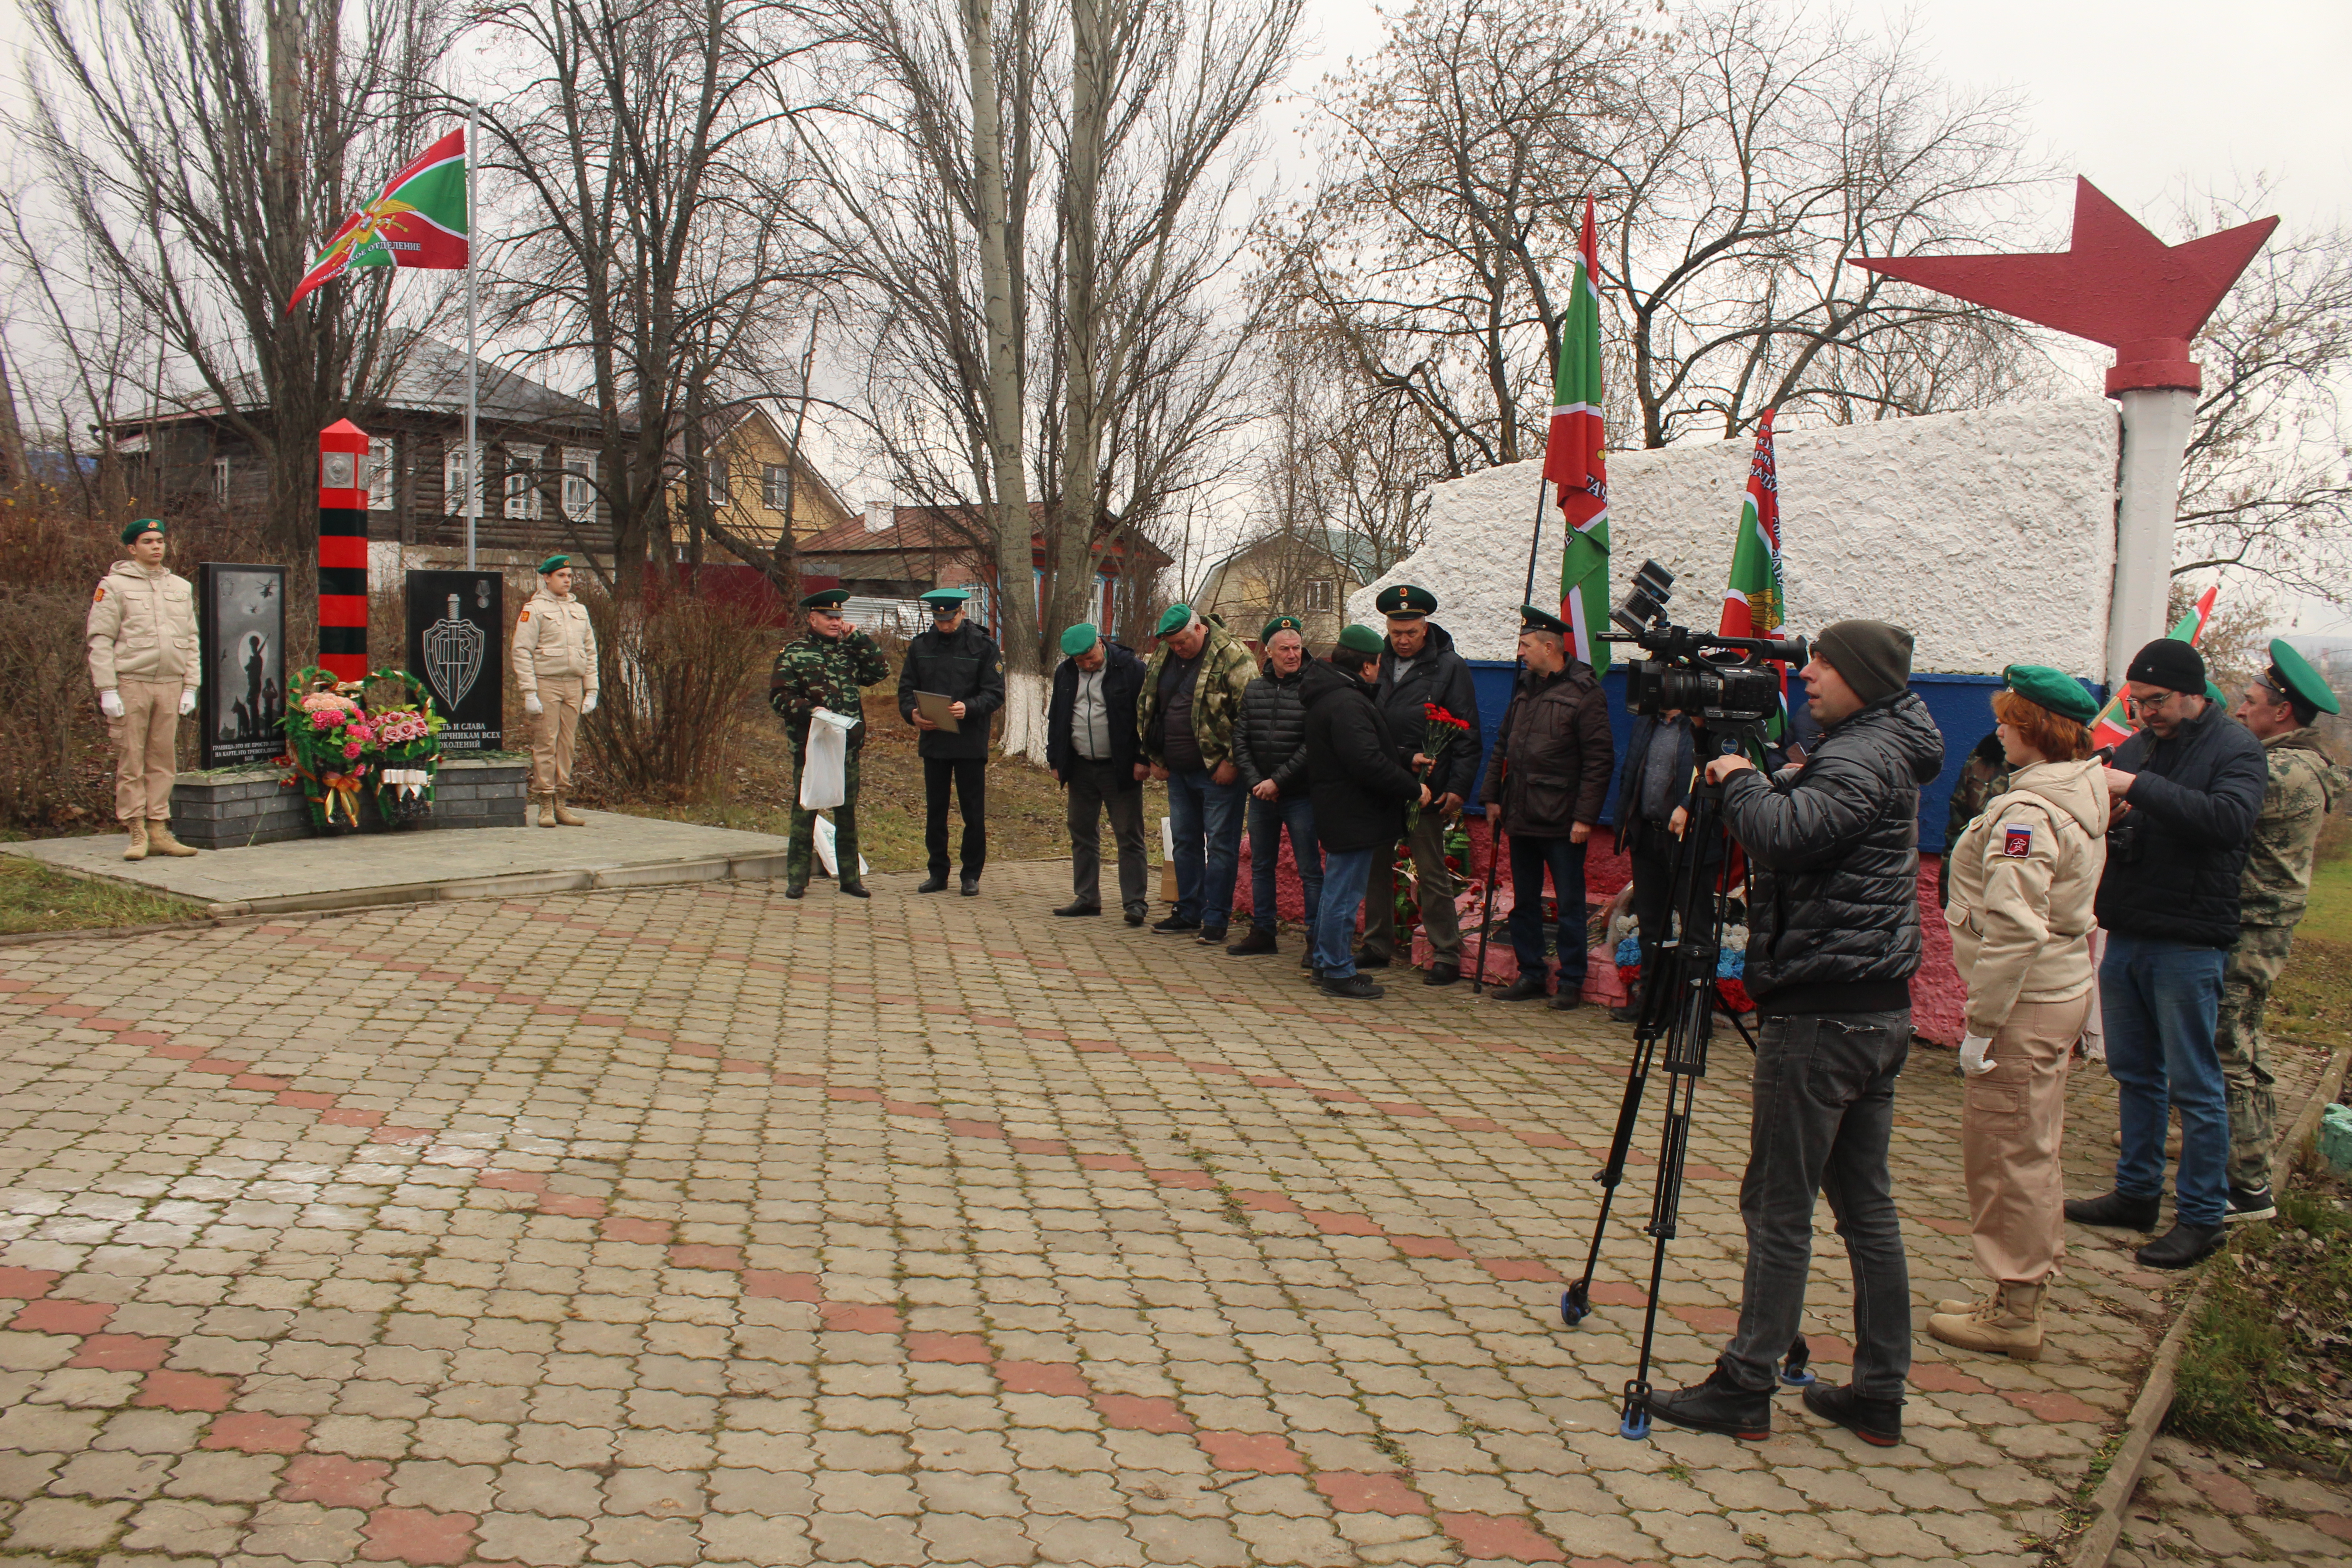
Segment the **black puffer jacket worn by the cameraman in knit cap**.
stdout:
[[1724,783],[1724,823],[1755,865],[1748,994],[1766,1013],[1910,1004],[1919,969],[1919,785],[1943,736],[1910,691],[1823,733],[1795,773]]

